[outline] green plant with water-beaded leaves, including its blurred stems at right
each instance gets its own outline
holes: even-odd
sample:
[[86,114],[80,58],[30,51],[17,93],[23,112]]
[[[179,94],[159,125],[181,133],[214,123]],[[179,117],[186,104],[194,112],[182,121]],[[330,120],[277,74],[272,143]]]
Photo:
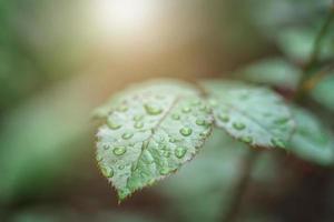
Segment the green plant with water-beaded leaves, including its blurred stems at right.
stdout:
[[[250,148],[226,221],[238,211],[262,149],[283,149],[321,165],[333,164],[332,132],[305,104],[317,100],[333,108],[328,93],[333,64],[322,54],[333,18],[332,7],[306,61],[304,51],[283,48],[287,58],[297,58],[301,65],[273,58],[239,70],[238,80],[149,81],[130,87],[99,108],[96,115],[106,123],[97,133],[96,157],[119,201],[176,172],[198,153],[215,128]],[[284,36],[279,43],[291,46],[289,39]],[[322,82],[325,78],[330,80]],[[282,91],[262,84],[288,88],[292,93],[279,94]]]

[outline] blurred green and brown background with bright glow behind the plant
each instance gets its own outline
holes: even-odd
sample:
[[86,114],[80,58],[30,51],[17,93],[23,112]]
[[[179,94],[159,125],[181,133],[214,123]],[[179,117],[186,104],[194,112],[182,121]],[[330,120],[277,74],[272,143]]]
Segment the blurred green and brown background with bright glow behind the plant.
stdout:
[[[301,64],[328,4],[1,0],[0,221],[218,221],[240,173],[242,144],[218,131],[179,173],[118,205],[96,167],[92,110],[149,78],[228,77],[272,57]],[[324,60],[333,42],[330,34]],[[293,88],[298,73],[286,69],[298,72],[277,68],[273,77],[284,72],[278,81]],[[331,113],[334,87],[323,84],[315,99],[326,97]],[[243,221],[334,221],[331,169],[264,151],[253,179]]]

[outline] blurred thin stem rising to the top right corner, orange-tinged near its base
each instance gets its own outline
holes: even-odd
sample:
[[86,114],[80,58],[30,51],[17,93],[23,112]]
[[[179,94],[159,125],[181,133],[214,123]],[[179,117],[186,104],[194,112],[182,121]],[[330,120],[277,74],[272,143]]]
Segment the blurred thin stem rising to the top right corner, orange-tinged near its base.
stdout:
[[330,30],[331,23],[334,20],[334,0],[331,3],[330,7],[330,13],[325,18],[325,21],[323,26],[320,29],[320,32],[317,33],[314,44],[313,44],[313,50],[310,57],[308,62],[304,67],[304,75],[301,80],[301,83],[296,90],[296,94],[294,100],[299,100],[304,97],[305,93],[307,93],[310,90],[312,90],[315,84],[325,75],[325,73],[333,69],[333,64],[330,64],[328,67],[325,67],[324,69],[313,72],[312,70],[314,69],[315,64],[318,62],[318,57],[321,53],[322,49],[322,41],[324,37],[326,36],[327,31]]

